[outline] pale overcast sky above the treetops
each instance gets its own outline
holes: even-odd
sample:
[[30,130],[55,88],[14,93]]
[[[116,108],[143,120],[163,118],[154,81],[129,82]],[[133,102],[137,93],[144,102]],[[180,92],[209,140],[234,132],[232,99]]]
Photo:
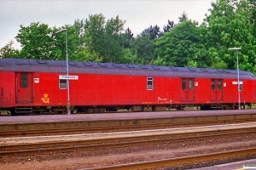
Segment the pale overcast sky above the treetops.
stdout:
[[103,14],[106,19],[119,15],[136,36],[149,26],[166,26],[168,20],[178,21],[183,11],[200,24],[215,0],[0,0],[0,48],[13,40],[20,25],[32,22],[50,27],[73,25],[74,20],[89,14]]

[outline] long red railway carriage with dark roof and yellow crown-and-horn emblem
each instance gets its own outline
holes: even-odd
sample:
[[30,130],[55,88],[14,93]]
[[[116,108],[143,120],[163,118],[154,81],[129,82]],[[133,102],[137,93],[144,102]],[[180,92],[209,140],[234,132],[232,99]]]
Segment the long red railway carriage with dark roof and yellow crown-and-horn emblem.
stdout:
[[[166,111],[186,105],[238,107],[237,72],[155,65],[69,63],[73,111]],[[0,109],[15,114],[61,114],[67,110],[66,61],[0,59]],[[241,105],[256,103],[256,78],[240,71]]]

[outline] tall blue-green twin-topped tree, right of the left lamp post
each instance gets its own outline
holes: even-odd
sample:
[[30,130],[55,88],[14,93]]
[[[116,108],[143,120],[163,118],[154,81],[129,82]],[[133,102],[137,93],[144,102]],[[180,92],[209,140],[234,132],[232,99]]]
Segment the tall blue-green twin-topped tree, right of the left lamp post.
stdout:
[[119,62],[123,55],[124,41],[120,36],[124,31],[125,21],[119,16],[105,20],[102,14],[90,15],[85,20],[84,30],[91,37],[90,52],[96,52],[103,62]]

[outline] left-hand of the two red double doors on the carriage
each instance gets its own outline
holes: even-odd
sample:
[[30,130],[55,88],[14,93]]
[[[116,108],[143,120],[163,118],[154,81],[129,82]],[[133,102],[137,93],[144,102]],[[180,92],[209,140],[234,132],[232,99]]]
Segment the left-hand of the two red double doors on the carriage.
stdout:
[[181,101],[194,101],[194,79],[181,79]]

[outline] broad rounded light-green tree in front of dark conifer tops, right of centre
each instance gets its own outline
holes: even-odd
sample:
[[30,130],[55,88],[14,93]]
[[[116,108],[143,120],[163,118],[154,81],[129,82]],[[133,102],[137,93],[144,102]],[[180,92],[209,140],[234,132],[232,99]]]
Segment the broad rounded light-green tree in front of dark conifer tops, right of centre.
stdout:
[[195,22],[184,20],[172,31],[155,41],[155,53],[160,63],[175,66],[198,66],[207,64],[207,49],[204,48],[203,33],[206,26],[197,27]]

